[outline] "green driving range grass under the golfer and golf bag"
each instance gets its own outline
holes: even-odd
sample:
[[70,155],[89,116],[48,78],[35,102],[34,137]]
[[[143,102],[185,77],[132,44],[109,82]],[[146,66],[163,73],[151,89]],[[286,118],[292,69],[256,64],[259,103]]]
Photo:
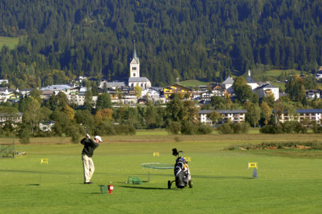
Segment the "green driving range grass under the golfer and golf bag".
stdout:
[[[94,184],[84,185],[82,145],[35,138],[16,146],[25,157],[0,159],[0,213],[321,213],[322,151],[225,149],[290,141],[321,142],[321,134],[104,136],[93,157]],[[173,170],[140,165],[174,163],[172,148],[191,158],[191,189],[168,189]],[[49,164],[40,164],[44,158]],[[249,162],[258,163],[258,178]],[[128,184],[129,176],[145,182]],[[101,193],[110,184],[112,194]]]

